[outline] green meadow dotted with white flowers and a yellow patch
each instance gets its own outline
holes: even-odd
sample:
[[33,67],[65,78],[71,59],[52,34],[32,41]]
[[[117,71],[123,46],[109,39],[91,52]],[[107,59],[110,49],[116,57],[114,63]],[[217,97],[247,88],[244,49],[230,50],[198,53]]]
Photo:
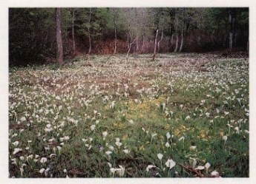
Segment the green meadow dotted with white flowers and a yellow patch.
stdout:
[[249,177],[248,59],[148,56],[10,69],[10,177]]

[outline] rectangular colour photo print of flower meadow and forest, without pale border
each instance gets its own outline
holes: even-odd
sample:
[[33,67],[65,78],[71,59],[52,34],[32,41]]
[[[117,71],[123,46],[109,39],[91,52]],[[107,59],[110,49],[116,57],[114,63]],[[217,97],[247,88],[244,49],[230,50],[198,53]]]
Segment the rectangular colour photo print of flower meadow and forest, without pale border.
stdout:
[[10,178],[249,177],[249,7],[9,7]]

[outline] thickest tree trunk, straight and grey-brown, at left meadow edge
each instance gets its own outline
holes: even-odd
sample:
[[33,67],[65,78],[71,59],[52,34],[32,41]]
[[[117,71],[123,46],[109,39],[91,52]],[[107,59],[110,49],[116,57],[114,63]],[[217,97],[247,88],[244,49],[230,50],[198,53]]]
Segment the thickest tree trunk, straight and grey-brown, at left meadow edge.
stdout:
[[56,41],[57,41],[57,62],[63,64],[63,46],[62,46],[62,27],[61,27],[61,10],[56,8]]

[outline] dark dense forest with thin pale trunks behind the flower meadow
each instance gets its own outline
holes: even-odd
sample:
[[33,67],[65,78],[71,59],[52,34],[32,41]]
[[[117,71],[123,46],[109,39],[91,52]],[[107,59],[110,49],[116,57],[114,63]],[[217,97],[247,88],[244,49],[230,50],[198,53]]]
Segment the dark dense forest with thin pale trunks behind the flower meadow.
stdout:
[[249,50],[249,8],[9,9],[10,66],[62,55],[215,50]]

